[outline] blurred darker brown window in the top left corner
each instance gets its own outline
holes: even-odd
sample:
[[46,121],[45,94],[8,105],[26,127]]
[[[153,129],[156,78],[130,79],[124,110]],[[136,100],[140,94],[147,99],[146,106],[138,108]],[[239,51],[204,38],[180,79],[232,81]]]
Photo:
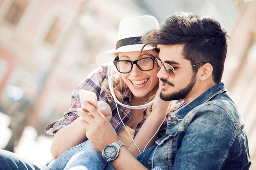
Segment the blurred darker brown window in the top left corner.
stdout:
[[13,0],[6,14],[5,21],[17,26],[28,4],[29,0]]

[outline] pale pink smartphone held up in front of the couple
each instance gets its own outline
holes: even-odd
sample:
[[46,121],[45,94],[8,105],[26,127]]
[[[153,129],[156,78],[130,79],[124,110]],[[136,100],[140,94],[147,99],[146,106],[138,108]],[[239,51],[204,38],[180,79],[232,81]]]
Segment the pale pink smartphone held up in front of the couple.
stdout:
[[81,102],[81,108],[85,109],[83,105],[83,101],[86,101],[93,105],[96,109],[98,109],[97,105],[97,95],[91,91],[83,90],[81,89],[79,91],[79,96],[80,96],[80,102]]

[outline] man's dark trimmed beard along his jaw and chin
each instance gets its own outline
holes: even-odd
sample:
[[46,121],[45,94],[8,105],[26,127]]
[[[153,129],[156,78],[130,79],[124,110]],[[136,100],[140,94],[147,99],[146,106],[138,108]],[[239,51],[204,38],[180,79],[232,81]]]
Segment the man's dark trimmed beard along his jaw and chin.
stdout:
[[192,90],[192,88],[194,87],[195,80],[196,80],[196,77],[195,77],[195,75],[193,75],[189,85],[187,85],[185,88],[181,89],[178,92],[174,92],[173,94],[163,94],[161,91],[160,98],[164,101],[184,99],[189,94],[189,92]]

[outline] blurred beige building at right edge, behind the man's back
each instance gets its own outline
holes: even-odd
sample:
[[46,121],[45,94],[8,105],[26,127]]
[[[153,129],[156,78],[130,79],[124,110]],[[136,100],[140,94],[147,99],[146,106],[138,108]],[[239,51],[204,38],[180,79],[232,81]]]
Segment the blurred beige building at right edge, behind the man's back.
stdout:
[[256,2],[240,6],[229,41],[224,81],[245,122],[251,169],[256,169]]

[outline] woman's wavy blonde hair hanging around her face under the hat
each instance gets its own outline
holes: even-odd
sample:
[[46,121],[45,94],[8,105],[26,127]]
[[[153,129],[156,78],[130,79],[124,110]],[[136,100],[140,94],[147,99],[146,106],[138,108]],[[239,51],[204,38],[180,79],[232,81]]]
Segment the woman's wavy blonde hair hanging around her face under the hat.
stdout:
[[[159,49],[155,48],[154,50],[148,50],[145,52],[154,57],[158,57]],[[115,53],[114,56],[115,56],[115,59],[118,59],[118,53]],[[116,73],[113,71],[113,74],[116,74]],[[157,82],[157,84],[154,86],[154,88],[146,95],[148,97],[148,101],[145,103],[148,103],[154,99],[158,88],[159,88],[159,82]],[[123,81],[121,76],[114,77],[113,90],[114,90],[114,94],[116,95],[116,98],[119,100],[119,102],[121,102],[121,103],[123,102],[124,96],[122,95],[122,92],[127,91],[128,89],[129,89],[128,86]],[[111,102],[114,102],[113,97],[111,96],[111,92],[110,92],[108,84],[105,85],[105,92],[106,92],[107,99]],[[173,106],[172,106],[172,102],[171,102],[169,105],[168,111],[171,111],[172,108],[173,108]],[[143,116],[143,119],[145,120],[148,118],[148,116],[152,112],[152,105],[148,108],[145,108],[144,111],[145,111],[145,114]],[[143,111],[143,113],[144,113],[144,111]]]

